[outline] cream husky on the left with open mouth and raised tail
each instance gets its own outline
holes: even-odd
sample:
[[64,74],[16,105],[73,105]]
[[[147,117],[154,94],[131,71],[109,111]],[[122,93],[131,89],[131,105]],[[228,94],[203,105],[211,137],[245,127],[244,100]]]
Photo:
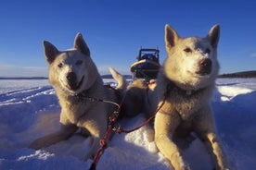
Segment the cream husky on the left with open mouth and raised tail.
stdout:
[[[84,156],[92,158],[108,126],[108,114],[119,103],[116,91],[103,86],[90,50],[78,33],[72,49],[60,52],[50,42],[44,42],[45,57],[49,66],[49,81],[58,95],[61,106],[58,132],[35,140],[31,148],[40,149],[67,140],[78,128],[93,137],[90,151]],[[119,83],[117,90],[125,89],[125,79],[114,69],[109,69]]]

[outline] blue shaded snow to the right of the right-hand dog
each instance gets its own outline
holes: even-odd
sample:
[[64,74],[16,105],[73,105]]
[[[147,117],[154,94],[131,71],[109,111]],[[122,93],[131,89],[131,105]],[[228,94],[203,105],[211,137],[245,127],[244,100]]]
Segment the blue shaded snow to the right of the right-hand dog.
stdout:
[[[223,94],[217,91],[217,100],[213,100],[211,105],[216,128],[224,150],[228,152],[227,158],[237,169],[250,169],[251,164],[256,167],[253,161],[256,159],[256,91],[238,94],[224,101],[222,97]],[[237,157],[240,159],[237,160]]]

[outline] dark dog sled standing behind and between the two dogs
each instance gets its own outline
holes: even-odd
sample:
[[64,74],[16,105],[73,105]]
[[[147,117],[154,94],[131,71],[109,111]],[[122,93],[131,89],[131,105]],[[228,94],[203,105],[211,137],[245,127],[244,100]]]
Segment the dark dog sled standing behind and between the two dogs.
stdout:
[[133,79],[157,79],[160,69],[159,49],[141,48],[137,61],[130,68]]

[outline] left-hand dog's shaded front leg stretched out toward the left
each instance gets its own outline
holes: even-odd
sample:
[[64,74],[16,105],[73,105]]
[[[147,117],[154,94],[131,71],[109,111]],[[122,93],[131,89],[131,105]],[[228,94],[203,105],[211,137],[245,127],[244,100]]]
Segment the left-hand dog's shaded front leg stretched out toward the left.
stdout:
[[57,132],[34,140],[29,147],[34,150],[39,150],[41,148],[45,148],[58,143],[59,141],[68,140],[76,130],[77,127],[73,125],[62,126]]

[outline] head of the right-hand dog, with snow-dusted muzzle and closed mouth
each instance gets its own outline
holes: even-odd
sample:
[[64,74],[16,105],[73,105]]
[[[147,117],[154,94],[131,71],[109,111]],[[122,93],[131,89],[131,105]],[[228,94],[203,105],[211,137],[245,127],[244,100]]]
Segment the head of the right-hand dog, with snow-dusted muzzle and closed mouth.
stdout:
[[181,38],[171,26],[166,25],[168,56],[163,63],[166,77],[184,90],[198,90],[212,84],[219,71],[219,38],[219,25],[214,25],[204,38]]

